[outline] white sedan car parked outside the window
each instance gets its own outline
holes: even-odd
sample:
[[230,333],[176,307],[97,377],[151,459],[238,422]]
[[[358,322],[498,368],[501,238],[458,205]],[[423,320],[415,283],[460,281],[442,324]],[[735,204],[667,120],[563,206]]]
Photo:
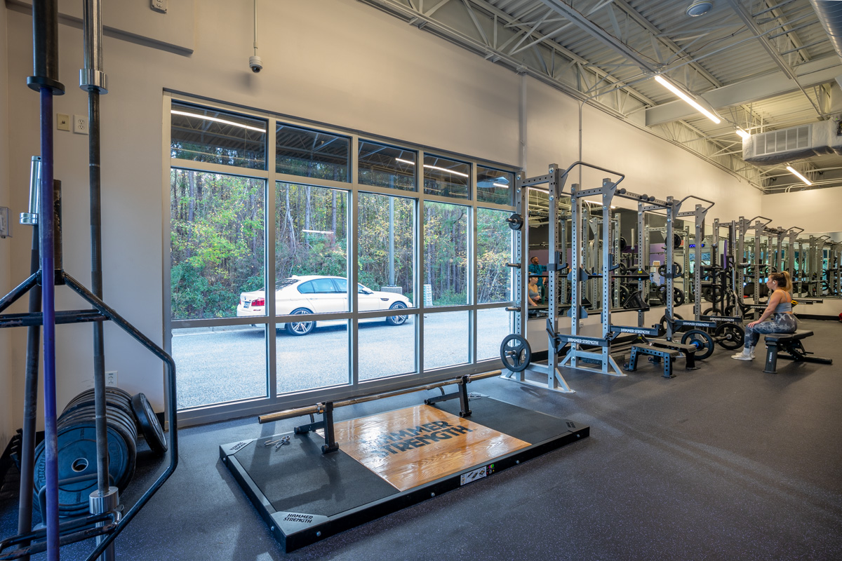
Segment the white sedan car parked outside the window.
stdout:
[[[292,276],[277,283],[275,308],[277,315],[329,314],[345,312],[348,305],[348,280],[341,277]],[[403,294],[378,292],[357,285],[360,311],[406,310],[412,302]],[[264,290],[243,292],[237,305],[237,317],[265,317],[266,293]],[[389,315],[388,325],[402,325],[408,315]],[[296,321],[285,325],[290,335],[306,335],[316,326],[315,321]]]

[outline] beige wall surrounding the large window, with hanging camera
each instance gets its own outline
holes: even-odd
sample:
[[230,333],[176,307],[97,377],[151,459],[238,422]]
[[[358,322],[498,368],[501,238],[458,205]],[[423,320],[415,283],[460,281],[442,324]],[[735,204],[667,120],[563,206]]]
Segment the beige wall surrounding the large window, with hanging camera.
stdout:
[[[105,3],[107,10],[115,3]],[[122,10],[148,4],[121,3]],[[229,103],[314,119],[338,127],[434,146],[517,165],[520,162],[520,77],[432,34],[402,23],[362,3],[343,0],[260,3],[260,55],[264,71],[248,69],[252,54],[251,3],[223,0],[196,3],[195,45],[165,50],[142,41],[107,35],[104,70],[109,93],[103,114],[103,209],[105,299],[141,331],[163,343],[163,89],[193,93]],[[125,14],[124,14],[125,15]],[[184,11],[160,18],[189,18]],[[111,21],[111,23],[109,23]],[[142,22],[141,18],[120,21]],[[135,34],[141,29],[133,29]],[[137,27],[137,26],[136,26]],[[147,29],[147,34],[154,34]],[[25,185],[25,162],[38,151],[38,96],[25,86],[31,73],[31,22],[27,13],[8,11],[9,146],[12,185]],[[62,24],[61,80],[67,95],[56,98],[56,112],[85,114],[86,97],[77,87],[82,66],[82,33]],[[578,157],[578,105],[556,90],[529,81],[527,91],[529,174],[547,164],[566,166]],[[585,160],[628,173],[632,190],[659,196],[689,192],[687,178],[705,193],[739,193],[749,208],[759,207],[751,192],[727,173],[670,146],[653,135],[586,108]],[[87,136],[56,132],[56,177],[64,182],[65,265],[89,281]],[[651,188],[649,188],[651,186]],[[712,195],[711,195],[712,196]],[[26,205],[24,188],[11,193],[13,211]],[[722,202],[728,220],[733,203]],[[717,209],[719,210],[719,209]],[[724,210],[723,210],[724,212]],[[746,212],[751,212],[746,211]],[[759,214],[759,213],[757,213]],[[717,214],[719,215],[719,214]],[[724,218],[725,216],[723,216]],[[13,278],[25,276],[28,242],[13,242]],[[59,289],[58,304],[80,306]],[[20,309],[15,310],[20,311]],[[13,335],[25,348],[25,333]],[[61,326],[57,341],[59,406],[88,387],[92,370],[89,325]],[[15,372],[24,356],[13,355]],[[157,359],[109,325],[107,370],[120,372],[120,385],[143,391],[157,410],[163,405]],[[16,391],[22,391],[22,374]],[[15,415],[19,416],[19,409]]]

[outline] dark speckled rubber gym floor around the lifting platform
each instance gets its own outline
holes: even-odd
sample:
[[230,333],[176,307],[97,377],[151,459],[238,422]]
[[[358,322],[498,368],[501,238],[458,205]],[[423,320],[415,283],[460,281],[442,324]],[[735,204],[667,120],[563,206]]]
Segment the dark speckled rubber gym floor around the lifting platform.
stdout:
[[[803,320],[808,351],[763,373],[717,348],[663,378],[567,371],[575,394],[499,378],[472,392],[567,417],[590,437],[338,536],[281,553],[219,459],[218,446],[290,431],[239,419],[179,432],[179,468],[117,539],[119,559],[839,559],[842,558],[842,324]],[[418,404],[408,394],[337,419]],[[131,504],[160,461],[141,442]],[[0,536],[17,525],[17,471],[0,492]],[[279,478],[284,474],[278,474]],[[91,546],[62,549],[83,559]],[[43,558],[36,556],[34,558]]]

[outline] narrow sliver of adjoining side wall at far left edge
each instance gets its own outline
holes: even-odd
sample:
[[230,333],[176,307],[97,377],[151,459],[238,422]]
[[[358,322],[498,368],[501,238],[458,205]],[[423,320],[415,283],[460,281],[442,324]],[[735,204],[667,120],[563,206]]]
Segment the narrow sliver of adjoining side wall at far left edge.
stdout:
[[[6,61],[6,10],[0,8],[0,206],[9,206],[8,188],[8,70]],[[9,215],[11,220],[13,215]],[[21,236],[21,229],[13,230],[14,236]],[[12,257],[12,240],[0,240],[0,294],[6,294],[11,288],[9,266]],[[0,329],[0,453],[14,433],[12,417],[13,388],[12,353],[10,347],[11,332]]]

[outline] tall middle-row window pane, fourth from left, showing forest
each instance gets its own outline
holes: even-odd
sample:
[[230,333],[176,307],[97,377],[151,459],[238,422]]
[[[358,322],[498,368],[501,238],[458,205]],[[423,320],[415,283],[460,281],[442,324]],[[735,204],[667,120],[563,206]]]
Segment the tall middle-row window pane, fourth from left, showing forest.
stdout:
[[424,203],[424,299],[432,293],[429,305],[468,303],[468,220],[465,206]]

